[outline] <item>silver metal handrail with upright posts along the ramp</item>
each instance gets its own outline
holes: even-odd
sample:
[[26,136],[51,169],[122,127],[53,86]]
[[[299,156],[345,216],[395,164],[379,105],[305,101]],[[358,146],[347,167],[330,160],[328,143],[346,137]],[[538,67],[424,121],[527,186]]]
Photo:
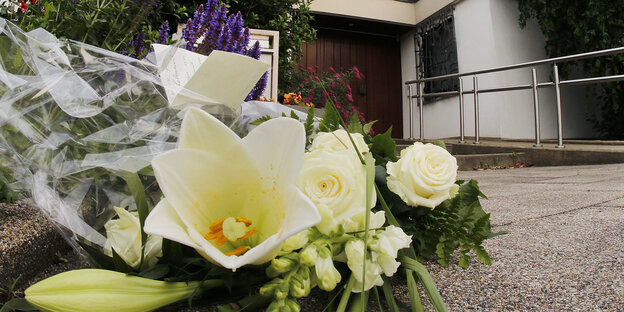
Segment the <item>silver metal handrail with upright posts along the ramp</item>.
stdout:
[[[459,107],[460,107],[460,129],[459,129],[459,142],[464,143],[464,94],[473,94],[474,95],[474,111],[475,111],[475,140],[474,144],[479,144],[479,94],[480,93],[491,93],[491,92],[504,92],[504,91],[515,91],[515,90],[529,90],[533,91],[533,110],[535,115],[535,144],[533,146],[538,147],[541,146],[540,143],[540,122],[539,122],[539,96],[538,89],[539,88],[548,88],[554,87],[557,101],[557,148],[563,147],[563,127],[562,127],[562,119],[561,119],[561,86],[568,85],[581,85],[581,84],[592,84],[592,83],[603,83],[603,82],[612,82],[612,81],[624,81],[623,75],[612,75],[612,76],[600,76],[600,77],[591,77],[591,78],[582,78],[582,79],[571,79],[571,80],[560,80],[559,79],[559,68],[557,67],[557,63],[562,62],[570,62],[600,56],[614,55],[624,53],[624,47],[613,48],[613,49],[605,49],[593,52],[579,53],[568,56],[554,57],[539,61],[533,62],[525,62],[514,65],[493,67],[483,70],[464,72],[464,73],[456,73],[456,74],[448,74],[436,77],[422,78],[409,80],[405,82],[408,86],[408,98],[409,98],[409,111],[410,111],[410,139],[413,139],[413,99],[418,99],[419,106],[419,121],[420,121],[420,132],[419,139],[424,139],[424,125],[423,125],[423,103],[424,98],[426,97],[437,97],[437,96],[447,96],[447,95],[458,95],[459,96]],[[539,82],[537,81],[537,72],[535,66],[552,64],[553,65],[553,76],[554,81],[549,82]],[[514,85],[514,86],[505,86],[498,88],[488,88],[488,89],[479,89],[478,87],[478,78],[477,75],[495,73],[508,71],[519,68],[531,68],[531,84],[524,85]],[[463,87],[463,79],[462,77],[473,76],[473,89],[472,90],[464,90]],[[425,82],[443,80],[443,79],[452,79],[457,78],[459,80],[459,90],[458,91],[445,91],[445,92],[436,92],[436,93],[424,93],[424,84]],[[414,95],[412,92],[412,86],[417,85],[417,93]]]

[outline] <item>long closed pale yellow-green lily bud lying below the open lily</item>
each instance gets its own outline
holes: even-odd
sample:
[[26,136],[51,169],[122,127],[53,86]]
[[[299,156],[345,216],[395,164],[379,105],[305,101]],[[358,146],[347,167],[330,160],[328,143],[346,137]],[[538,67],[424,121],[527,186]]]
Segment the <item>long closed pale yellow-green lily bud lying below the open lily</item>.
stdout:
[[152,311],[189,298],[200,282],[168,283],[124,273],[83,269],[46,278],[26,289],[42,311]]

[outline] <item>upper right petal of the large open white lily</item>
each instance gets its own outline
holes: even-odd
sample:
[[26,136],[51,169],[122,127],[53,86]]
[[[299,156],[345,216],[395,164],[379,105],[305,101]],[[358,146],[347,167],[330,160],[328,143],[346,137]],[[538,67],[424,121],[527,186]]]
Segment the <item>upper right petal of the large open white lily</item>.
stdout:
[[305,149],[305,129],[301,122],[286,117],[271,119],[242,140],[256,167],[266,168],[261,172],[263,176],[273,178],[278,185],[296,181]]

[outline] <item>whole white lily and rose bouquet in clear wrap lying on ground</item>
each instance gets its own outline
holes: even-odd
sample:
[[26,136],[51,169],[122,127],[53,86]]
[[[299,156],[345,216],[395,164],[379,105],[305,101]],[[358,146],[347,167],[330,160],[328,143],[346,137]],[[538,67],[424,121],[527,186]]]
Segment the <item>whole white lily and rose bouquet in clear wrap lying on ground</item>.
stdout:
[[[461,266],[473,252],[491,263],[484,196],[475,181],[456,181],[443,146],[415,143],[397,157],[390,131],[345,126],[331,101],[320,120],[310,109],[251,125],[240,103],[266,68],[245,56],[213,52],[172,87],[163,73],[175,47],[137,61],[4,20],[0,31],[7,184],[96,267],[42,280],[3,311],[151,311],[179,301],[300,311],[316,287],[328,310],[371,302],[398,311],[388,281],[397,272],[414,310],[420,283],[445,311],[421,261],[448,265],[459,249]],[[245,74],[202,76],[224,87],[197,89],[200,72],[221,75],[219,62],[205,66],[215,58]]]

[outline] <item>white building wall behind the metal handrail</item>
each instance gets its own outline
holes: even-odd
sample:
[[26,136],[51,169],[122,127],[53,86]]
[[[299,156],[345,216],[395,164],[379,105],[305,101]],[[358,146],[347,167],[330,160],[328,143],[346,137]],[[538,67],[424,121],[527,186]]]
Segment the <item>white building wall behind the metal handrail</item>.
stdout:
[[[514,0],[463,0],[455,2],[454,22],[459,72],[469,72],[547,58],[544,38],[535,21],[524,29],[518,23]],[[401,38],[403,81],[416,78],[414,33]],[[538,80],[550,81],[550,66],[538,68]],[[530,68],[479,76],[479,88],[531,83]],[[464,78],[464,89],[471,90],[472,78]],[[415,88],[414,88],[415,89]],[[413,134],[409,133],[409,105],[404,88],[404,137],[419,136],[419,112],[414,104]],[[563,89],[564,137],[591,137],[595,133],[585,120],[587,105],[582,89]],[[540,129],[542,139],[556,138],[556,104],[552,88],[540,89]],[[459,136],[459,103],[449,97],[424,106],[424,137]],[[416,101],[414,101],[416,103]],[[464,96],[465,135],[474,136],[474,101]],[[481,137],[533,139],[534,113],[531,90],[479,95],[479,134]]]

